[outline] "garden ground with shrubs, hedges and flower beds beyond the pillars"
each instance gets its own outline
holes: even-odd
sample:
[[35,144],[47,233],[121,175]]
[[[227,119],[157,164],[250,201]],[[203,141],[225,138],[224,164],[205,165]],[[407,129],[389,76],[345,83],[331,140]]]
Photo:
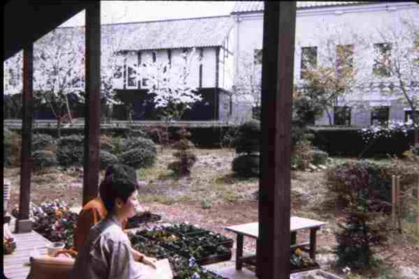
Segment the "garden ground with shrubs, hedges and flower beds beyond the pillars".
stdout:
[[[372,130],[357,132],[358,137],[366,144],[382,137],[395,146],[392,140],[402,137],[404,127]],[[260,124],[250,121],[218,132],[212,146],[196,140],[198,132],[188,128],[170,130],[169,144],[159,141],[163,128],[144,128],[140,135],[101,135],[100,179],[106,166],[124,163],[135,167],[139,179],[147,183],[139,191],[144,211],[131,220],[132,227],[145,223],[128,234],[133,247],[151,257],[168,257],[175,278],[194,273],[222,278],[203,266],[235,259],[235,234],[223,228],[258,221]],[[324,144],[324,133],[337,132],[293,130],[291,162],[291,216],[328,223],[318,232],[317,263],[342,278],[417,278],[418,145],[385,147],[387,153],[394,151],[391,156],[379,156],[381,147],[374,156],[371,152],[364,152],[364,158],[337,156],[335,146]],[[352,131],[342,133],[356,137]],[[16,215],[21,137],[6,128],[3,135],[4,177],[12,182],[9,211]],[[76,134],[59,139],[33,135],[34,230],[51,241],[64,241],[66,248],[73,245],[77,220],[78,211],[71,208],[82,204],[82,141]],[[396,220],[392,220],[393,175],[401,176],[402,185]],[[297,236],[298,243],[308,239],[308,231]],[[256,241],[245,238],[244,253],[255,250]],[[307,259],[302,250],[291,251],[295,270],[309,266]]]

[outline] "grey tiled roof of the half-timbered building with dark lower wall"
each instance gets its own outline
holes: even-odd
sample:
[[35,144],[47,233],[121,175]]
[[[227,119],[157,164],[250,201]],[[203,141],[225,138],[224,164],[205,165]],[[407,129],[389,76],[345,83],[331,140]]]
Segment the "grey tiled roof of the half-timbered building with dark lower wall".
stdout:
[[124,34],[122,50],[162,50],[223,45],[228,31],[233,28],[233,20],[227,15],[109,24],[105,29],[110,27]]

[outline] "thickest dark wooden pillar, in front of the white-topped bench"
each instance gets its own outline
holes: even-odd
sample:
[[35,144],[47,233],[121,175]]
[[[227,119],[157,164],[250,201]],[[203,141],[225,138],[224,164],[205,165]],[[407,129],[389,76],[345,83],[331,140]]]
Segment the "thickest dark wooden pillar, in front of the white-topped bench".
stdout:
[[264,4],[258,275],[288,279],[296,2]]

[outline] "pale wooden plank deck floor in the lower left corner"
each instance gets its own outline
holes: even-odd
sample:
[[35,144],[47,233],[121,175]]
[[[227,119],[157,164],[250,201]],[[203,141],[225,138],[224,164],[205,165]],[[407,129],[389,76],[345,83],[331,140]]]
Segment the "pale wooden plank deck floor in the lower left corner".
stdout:
[[29,274],[29,255],[31,251],[37,249],[39,255],[46,255],[45,246],[50,243],[41,234],[34,231],[24,234],[16,234],[15,219],[10,222],[10,231],[13,232],[16,241],[16,250],[12,255],[3,255],[4,275],[8,279],[25,279]]

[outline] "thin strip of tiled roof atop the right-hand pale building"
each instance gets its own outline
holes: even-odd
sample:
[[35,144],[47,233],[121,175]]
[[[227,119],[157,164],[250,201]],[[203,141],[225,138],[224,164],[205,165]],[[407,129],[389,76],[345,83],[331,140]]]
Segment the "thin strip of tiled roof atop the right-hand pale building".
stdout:
[[[297,10],[305,8],[319,8],[329,6],[348,6],[353,4],[364,4],[365,1],[297,1]],[[233,9],[233,13],[249,13],[249,12],[262,12],[263,1],[237,1]]]

